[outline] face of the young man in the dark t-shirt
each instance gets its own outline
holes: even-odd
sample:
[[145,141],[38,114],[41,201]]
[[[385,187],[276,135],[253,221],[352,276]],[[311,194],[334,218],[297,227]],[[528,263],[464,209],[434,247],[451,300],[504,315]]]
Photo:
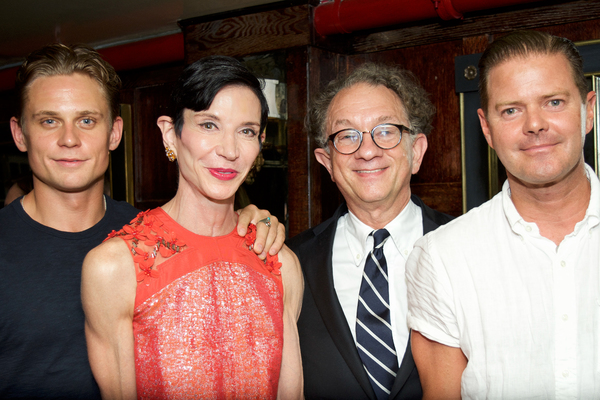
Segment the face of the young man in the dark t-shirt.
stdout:
[[27,98],[21,123],[11,119],[11,129],[17,147],[28,153],[36,190],[102,188],[109,150],[121,140],[122,121],[110,120],[100,85],[79,73],[40,77],[31,83]]

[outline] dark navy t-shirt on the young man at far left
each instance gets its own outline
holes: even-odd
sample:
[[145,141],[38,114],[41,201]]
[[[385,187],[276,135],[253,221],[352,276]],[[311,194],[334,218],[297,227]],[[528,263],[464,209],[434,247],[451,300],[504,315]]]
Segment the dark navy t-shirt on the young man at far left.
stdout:
[[41,225],[19,200],[0,209],[0,398],[100,398],[87,358],[81,265],[139,212],[106,198],[104,218],[77,233]]

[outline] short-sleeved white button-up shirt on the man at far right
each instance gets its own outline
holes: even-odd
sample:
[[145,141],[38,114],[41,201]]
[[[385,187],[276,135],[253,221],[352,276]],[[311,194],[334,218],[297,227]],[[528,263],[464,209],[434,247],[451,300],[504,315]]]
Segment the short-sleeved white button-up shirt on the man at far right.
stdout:
[[468,399],[600,398],[600,184],[559,246],[517,212],[508,182],[426,235],[407,263],[408,324],[460,347]]

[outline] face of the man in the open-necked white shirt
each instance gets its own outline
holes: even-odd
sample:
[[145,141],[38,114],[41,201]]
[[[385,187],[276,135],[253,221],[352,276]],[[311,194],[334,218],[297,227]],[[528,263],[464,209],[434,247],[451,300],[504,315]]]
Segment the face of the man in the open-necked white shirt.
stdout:
[[526,186],[564,181],[583,168],[595,94],[581,99],[562,54],[534,54],[494,67],[487,113],[479,119],[510,180]]

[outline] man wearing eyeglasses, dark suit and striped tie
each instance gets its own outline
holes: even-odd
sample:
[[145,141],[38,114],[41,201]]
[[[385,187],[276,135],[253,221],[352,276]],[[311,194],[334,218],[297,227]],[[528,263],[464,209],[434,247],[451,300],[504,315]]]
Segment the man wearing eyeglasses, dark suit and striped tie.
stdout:
[[331,82],[310,110],[315,156],[345,204],[289,241],[306,282],[298,330],[307,399],[422,396],[404,264],[417,239],[451,219],[410,192],[434,112],[410,72],[375,64]]

